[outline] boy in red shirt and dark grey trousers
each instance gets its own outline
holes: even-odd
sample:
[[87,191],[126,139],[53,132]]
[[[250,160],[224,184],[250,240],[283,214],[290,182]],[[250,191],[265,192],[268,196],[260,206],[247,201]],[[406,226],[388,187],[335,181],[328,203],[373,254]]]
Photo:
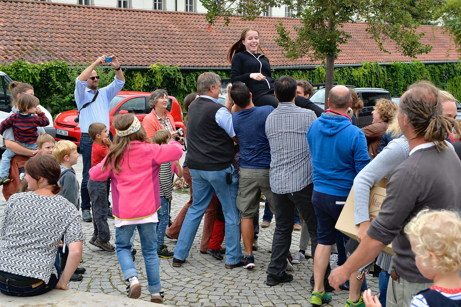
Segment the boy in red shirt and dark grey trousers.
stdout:
[[[109,152],[112,142],[109,139],[109,132],[106,125],[100,122],[95,122],[88,127],[88,134],[93,139],[93,148],[91,149],[91,167],[102,161]],[[111,234],[109,224],[107,224],[107,185],[110,181],[94,181],[88,180],[88,193],[91,200],[93,211],[93,237],[89,243],[104,249],[108,252],[113,252],[115,247],[109,243]]]

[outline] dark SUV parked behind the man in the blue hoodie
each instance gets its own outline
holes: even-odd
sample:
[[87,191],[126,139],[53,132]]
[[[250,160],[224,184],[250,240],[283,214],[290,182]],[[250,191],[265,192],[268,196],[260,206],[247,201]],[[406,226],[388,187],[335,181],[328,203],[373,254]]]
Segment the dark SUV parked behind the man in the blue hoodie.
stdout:
[[[372,123],[372,111],[379,98],[390,99],[389,91],[382,88],[373,87],[353,87],[355,92],[363,101],[363,109],[359,110],[359,117],[357,118],[357,126],[365,127]],[[320,88],[317,92],[313,93],[309,100],[317,104],[320,108],[325,109],[325,88]]]

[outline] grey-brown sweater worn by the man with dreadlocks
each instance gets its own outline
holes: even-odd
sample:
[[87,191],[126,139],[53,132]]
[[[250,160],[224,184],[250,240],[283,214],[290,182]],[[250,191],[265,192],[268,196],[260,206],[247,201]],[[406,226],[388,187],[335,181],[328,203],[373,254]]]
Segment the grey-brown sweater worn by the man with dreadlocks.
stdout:
[[419,272],[404,226],[420,210],[448,209],[461,211],[461,189],[454,178],[461,174],[461,161],[455,151],[435,146],[411,154],[397,166],[386,185],[386,198],[368,235],[384,244],[392,242],[396,253],[391,269],[416,283],[430,283]]

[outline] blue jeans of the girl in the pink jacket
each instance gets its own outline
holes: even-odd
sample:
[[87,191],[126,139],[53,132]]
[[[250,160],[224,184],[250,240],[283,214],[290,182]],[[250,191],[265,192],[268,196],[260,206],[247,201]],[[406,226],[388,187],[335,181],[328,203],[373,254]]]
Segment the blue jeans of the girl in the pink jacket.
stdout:
[[128,280],[131,276],[138,277],[138,271],[136,271],[130,251],[130,239],[136,228],[139,232],[142,256],[146,267],[147,289],[150,293],[159,293],[162,286],[160,285],[160,260],[157,255],[157,234],[155,232],[157,223],[125,225],[115,228],[115,244],[117,245],[115,250],[122,269],[123,279]]

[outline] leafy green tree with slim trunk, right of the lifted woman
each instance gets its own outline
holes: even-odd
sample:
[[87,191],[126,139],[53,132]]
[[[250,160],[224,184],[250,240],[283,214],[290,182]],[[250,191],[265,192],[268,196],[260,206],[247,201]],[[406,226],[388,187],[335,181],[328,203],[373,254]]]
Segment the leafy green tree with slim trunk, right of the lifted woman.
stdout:
[[[333,86],[334,63],[341,49],[352,37],[344,30],[345,23],[365,21],[366,32],[374,39],[383,52],[390,53],[383,45],[383,40],[396,42],[396,49],[405,56],[431,51],[431,46],[420,43],[424,33],[416,29],[421,19],[424,21],[437,12],[440,0],[298,0],[292,17],[300,18],[296,26],[296,35],[284,27],[281,20],[277,26],[276,42],[282,46],[287,58],[297,59],[309,56],[312,60],[322,60],[325,64],[325,104],[328,93]],[[459,1],[459,0],[449,0]],[[244,20],[252,20],[269,6],[289,5],[290,0],[202,0],[208,10],[208,22],[214,23],[223,17],[225,24],[232,15],[246,13]],[[425,22],[426,23],[426,22]]]

